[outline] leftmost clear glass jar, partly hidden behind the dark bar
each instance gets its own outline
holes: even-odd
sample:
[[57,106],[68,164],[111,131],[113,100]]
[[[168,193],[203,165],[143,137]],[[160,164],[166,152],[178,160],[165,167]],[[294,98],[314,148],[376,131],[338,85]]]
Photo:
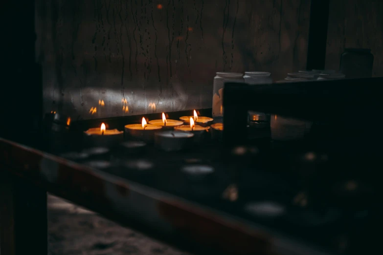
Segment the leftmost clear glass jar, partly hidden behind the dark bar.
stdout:
[[242,73],[217,72],[213,82],[213,107],[212,117],[215,123],[223,121],[223,96],[224,85],[226,82],[243,83],[245,82]]

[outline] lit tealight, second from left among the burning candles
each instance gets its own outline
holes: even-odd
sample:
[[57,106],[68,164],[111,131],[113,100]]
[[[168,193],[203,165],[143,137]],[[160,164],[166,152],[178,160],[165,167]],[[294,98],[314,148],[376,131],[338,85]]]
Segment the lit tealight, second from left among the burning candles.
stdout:
[[125,126],[125,133],[137,140],[144,141],[146,143],[153,143],[154,134],[162,127],[152,124],[147,124],[144,117],[142,117],[141,124],[131,124]]

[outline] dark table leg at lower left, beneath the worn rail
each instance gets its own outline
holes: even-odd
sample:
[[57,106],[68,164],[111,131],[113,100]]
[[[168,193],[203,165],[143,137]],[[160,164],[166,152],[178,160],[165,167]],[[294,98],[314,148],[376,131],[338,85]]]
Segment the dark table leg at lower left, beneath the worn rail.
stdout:
[[0,170],[0,254],[47,254],[46,191]]

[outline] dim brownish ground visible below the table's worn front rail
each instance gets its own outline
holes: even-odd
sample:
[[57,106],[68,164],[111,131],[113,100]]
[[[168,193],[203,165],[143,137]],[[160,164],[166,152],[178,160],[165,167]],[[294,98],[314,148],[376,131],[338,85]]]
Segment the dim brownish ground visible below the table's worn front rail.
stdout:
[[48,195],[49,255],[186,255]]

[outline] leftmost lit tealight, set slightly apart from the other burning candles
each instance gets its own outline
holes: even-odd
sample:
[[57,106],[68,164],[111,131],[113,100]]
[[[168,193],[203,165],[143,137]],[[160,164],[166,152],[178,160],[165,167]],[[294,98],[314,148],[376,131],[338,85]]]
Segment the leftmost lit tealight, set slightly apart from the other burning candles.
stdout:
[[124,140],[124,132],[117,129],[106,129],[105,123],[101,128],[90,128],[84,132],[88,143],[96,147],[112,147]]

